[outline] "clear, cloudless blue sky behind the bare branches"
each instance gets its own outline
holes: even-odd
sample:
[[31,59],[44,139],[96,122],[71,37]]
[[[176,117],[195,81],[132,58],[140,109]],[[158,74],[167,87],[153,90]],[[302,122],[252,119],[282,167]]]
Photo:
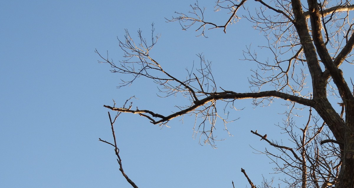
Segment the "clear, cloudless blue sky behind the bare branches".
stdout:
[[[121,75],[99,64],[97,49],[122,59],[118,40],[124,29],[135,37],[141,29],[150,37],[151,24],[161,34],[151,52],[165,69],[185,78],[185,68],[203,53],[212,61],[219,86],[249,92],[247,77],[254,64],[242,59],[246,46],[265,38],[247,21],[199,33],[166,23],[175,11],[187,12],[193,1],[2,1],[0,2],[0,187],[130,187],[120,174],[112,142],[108,109],[135,95],[134,105],[160,113],[187,104],[183,98],[161,99],[156,86],[144,79],[117,89]],[[200,2],[201,3],[201,2]],[[213,4],[205,4],[213,11]],[[210,19],[223,22],[228,15]],[[221,23],[221,22],[219,22]],[[284,104],[278,100],[279,104]],[[193,139],[193,121],[176,118],[160,128],[146,118],[123,114],[116,126],[126,174],[139,187],[246,187],[244,168],[254,183],[273,177],[273,164],[250,146],[264,150],[266,142],[250,133],[281,139],[278,105],[253,108],[240,101],[228,125],[233,136],[217,128],[218,149]],[[221,109],[220,109],[221,110]],[[114,113],[112,113],[114,114]],[[231,118],[232,119],[232,118]],[[282,177],[277,175],[276,177]],[[249,185],[248,185],[249,186]]]

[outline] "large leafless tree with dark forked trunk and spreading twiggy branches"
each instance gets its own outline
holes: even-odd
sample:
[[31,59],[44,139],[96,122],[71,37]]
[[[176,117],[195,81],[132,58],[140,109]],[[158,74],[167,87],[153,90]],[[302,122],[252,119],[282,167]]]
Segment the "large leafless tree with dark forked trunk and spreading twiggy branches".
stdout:
[[[252,11],[252,6],[258,8]],[[119,87],[145,77],[153,80],[166,97],[181,93],[190,105],[179,106],[171,114],[132,110],[131,107],[104,107],[139,114],[156,125],[165,125],[185,114],[202,117],[196,118],[195,133],[200,133],[204,143],[213,146],[216,120],[221,119],[226,130],[227,123],[233,121],[219,115],[218,101],[233,106],[236,100],[252,98],[254,105],[267,105],[275,98],[283,99],[288,101],[290,110],[285,112],[287,118],[279,126],[288,134],[293,146],[283,146],[268,140],[266,135],[251,131],[277,149],[262,153],[275,162],[276,171],[289,176],[283,181],[289,187],[353,188],[354,87],[350,77],[346,78],[350,79],[351,86],[346,82],[344,76],[348,75],[340,68],[342,64],[354,64],[351,53],[354,5],[339,0],[218,0],[215,11],[229,13],[229,17],[220,20],[221,24],[206,20],[204,8],[198,2],[190,8],[188,13],[176,12],[176,17],[167,20],[179,22],[184,30],[194,28],[200,36],[205,36],[209,29],[221,28],[226,33],[231,23],[243,18],[254,23],[254,28],[267,37],[268,43],[261,46],[270,54],[266,59],[257,57],[249,48],[244,52],[245,61],[258,64],[249,79],[252,92],[238,93],[232,88],[217,87],[210,63],[202,55],[199,55],[199,68],[189,70],[184,80],[178,78],[172,72],[166,72],[162,64],[150,56],[150,50],[159,39],[154,35],[154,29],[151,41],[145,40],[141,31],[138,31],[138,39],[133,40],[126,31],[125,39],[119,41],[125,60],[115,64],[100,55],[103,59],[100,62],[110,64],[112,72],[132,76],[130,80],[122,80]],[[292,118],[295,111],[304,109],[309,110],[308,120],[299,127]],[[256,187],[244,169],[242,172],[251,187]],[[272,184],[264,181],[262,187],[272,187]]]

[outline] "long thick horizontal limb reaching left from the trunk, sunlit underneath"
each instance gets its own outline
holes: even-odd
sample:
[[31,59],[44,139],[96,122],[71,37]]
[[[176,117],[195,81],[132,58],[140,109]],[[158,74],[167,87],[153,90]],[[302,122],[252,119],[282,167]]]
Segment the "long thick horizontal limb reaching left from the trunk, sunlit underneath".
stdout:
[[[219,92],[219,93],[208,93],[208,95],[209,96],[207,96],[204,99],[194,101],[194,105],[192,105],[184,110],[173,113],[169,116],[163,116],[161,114],[154,113],[149,110],[130,110],[128,108],[116,108],[116,107],[111,107],[111,106],[106,106],[106,105],[103,105],[103,106],[106,108],[109,108],[113,111],[126,112],[126,113],[137,113],[137,114],[140,114],[141,116],[144,116],[144,117],[150,119],[151,123],[159,124],[159,123],[170,121],[171,119],[173,119],[175,117],[187,114],[191,111],[196,110],[198,107],[207,104],[208,102],[216,101],[216,100],[255,99],[255,98],[264,98],[264,97],[275,97],[275,98],[280,98],[280,99],[284,99],[284,100],[288,100],[288,101],[292,101],[292,102],[297,102],[299,104],[306,105],[306,106],[313,106],[313,104],[314,104],[312,100],[301,98],[301,97],[290,95],[290,94],[286,94],[286,93],[277,92],[277,91],[266,91],[266,92],[258,92],[258,93],[235,93],[235,92],[231,92],[231,91],[225,91],[225,92]],[[160,120],[155,121],[152,117],[150,117],[146,114],[150,114],[150,116],[155,117],[155,118],[160,118]]]

